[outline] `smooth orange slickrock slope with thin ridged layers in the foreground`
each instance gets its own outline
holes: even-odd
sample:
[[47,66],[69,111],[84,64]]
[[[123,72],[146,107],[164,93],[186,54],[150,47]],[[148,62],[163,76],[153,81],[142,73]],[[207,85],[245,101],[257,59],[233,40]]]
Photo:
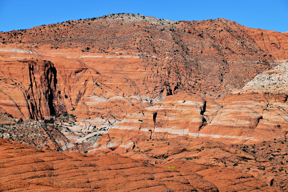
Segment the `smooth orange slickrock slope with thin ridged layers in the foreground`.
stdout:
[[[186,141],[183,142],[187,143]],[[181,140],[178,142],[180,144]],[[167,141],[154,143],[156,145],[165,145],[166,143],[167,146]],[[169,148],[176,147],[175,144],[171,143]],[[236,149],[234,154],[231,154],[228,149],[225,149],[225,151],[211,156],[215,148],[209,150],[209,143],[204,142],[201,146],[194,146],[201,147],[201,152],[193,149],[193,145],[192,142],[186,147],[191,152],[183,150],[176,153],[173,156],[174,159],[169,155],[168,158],[165,157],[166,160],[155,159],[159,162],[151,164],[141,159],[135,160],[121,155],[93,156],[83,153],[41,151],[24,144],[0,139],[2,154],[0,189],[2,191],[135,192],[286,190],[287,181],[283,182],[279,176],[269,174],[270,180],[273,178],[272,185],[270,185],[271,181],[268,178],[267,184],[265,179],[243,171],[247,167],[257,168],[261,165],[255,160],[239,161],[238,155],[242,156],[244,153],[241,150]],[[214,146],[221,147],[221,144]],[[146,145],[143,147],[146,148]],[[229,149],[230,151],[235,150],[233,147]],[[129,153],[132,154],[132,152]],[[197,158],[194,160],[192,155]],[[206,165],[204,165],[202,157],[206,157]],[[242,157],[247,157],[247,155]],[[239,165],[233,166],[233,161],[237,161]],[[238,166],[239,168],[236,168]],[[262,170],[262,172],[267,171]]]

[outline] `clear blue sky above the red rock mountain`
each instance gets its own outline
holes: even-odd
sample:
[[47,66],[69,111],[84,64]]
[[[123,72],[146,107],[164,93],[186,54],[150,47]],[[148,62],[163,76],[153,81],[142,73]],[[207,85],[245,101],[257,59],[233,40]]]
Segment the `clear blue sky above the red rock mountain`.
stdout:
[[288,31],[288,0],[223,1],[41,1],[0,0],[0,31],[42,24],[133,13],[169,20],[226,18],[247,27]]

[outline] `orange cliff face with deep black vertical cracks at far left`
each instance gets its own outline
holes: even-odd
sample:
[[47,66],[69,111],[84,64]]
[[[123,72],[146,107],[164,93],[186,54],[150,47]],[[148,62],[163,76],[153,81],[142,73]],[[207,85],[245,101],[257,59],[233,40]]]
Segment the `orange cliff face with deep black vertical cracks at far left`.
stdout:
[[55,113],[58,98],[57,71],[51,62],[3,62],[0,87],[1,112],[36,120]]

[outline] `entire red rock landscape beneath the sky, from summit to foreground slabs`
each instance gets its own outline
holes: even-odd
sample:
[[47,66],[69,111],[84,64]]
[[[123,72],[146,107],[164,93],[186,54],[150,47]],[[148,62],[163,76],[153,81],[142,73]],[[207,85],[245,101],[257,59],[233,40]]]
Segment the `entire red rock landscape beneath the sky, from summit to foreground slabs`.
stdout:
[[0,39],[0,191],[288,191],[287,33],[112,14]]

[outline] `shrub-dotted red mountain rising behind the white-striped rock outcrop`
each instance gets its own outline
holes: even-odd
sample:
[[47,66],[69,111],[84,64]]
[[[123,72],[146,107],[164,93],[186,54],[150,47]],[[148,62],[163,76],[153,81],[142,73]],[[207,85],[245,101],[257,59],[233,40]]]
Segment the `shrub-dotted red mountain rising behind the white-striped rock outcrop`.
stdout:
[[287,58],[285,33],[254,31],[225,19],[115,14],[0,33],[1,108],[19,118],[75,109],[120,120],[167,95],[224,96]]

